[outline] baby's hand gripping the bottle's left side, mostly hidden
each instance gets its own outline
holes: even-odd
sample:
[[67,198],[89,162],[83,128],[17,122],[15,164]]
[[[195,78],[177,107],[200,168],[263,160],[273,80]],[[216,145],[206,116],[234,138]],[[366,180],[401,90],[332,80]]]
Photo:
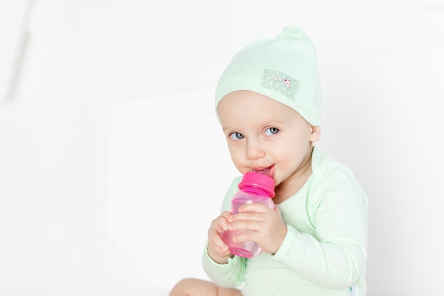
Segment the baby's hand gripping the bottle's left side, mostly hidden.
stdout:
[[219,264],[228,263],[228,258],[232,256],[228,246],[221,239],[221,232],[228,229],[228,219],[230,216],[229,212],[223,212],[221,216],[211,221],[211,226],[208,230],[207,252],[213,261]]

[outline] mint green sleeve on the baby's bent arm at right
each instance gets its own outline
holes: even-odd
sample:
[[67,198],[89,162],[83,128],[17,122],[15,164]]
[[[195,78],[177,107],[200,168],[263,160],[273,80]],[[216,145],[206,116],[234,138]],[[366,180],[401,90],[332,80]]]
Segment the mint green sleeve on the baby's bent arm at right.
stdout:
[[333,168],[328,178],[321,177],[322,182],[312,180],[306,187],[311,194],[298,194],[310,197],[304,208],[279,207],[288,231],[273,259],[313,283],[341,289],[352,286],[365,272],[367,199],[343,168]]

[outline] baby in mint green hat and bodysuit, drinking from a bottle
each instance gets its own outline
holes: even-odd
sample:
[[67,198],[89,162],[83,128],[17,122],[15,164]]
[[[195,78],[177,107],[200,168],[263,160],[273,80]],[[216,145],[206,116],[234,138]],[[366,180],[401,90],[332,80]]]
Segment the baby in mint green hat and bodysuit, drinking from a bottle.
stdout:
[[[211,282],[187,278],[171,296],[355,295],[367,292],[367,197],[345,165],[314,143],[321,136],[316,51],[296,27],[257,40],[231,60],[216,88],[216,114],[240,174],[266,172],[276,207],[230,214],[235,177],[213,219],[203,265]],[[233,256],[221,231],[250,229],[263,253]]]

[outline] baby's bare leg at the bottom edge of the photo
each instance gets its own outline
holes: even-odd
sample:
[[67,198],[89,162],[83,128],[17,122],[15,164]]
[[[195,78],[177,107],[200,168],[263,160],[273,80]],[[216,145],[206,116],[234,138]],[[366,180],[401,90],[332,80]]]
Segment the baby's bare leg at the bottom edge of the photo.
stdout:
[[170,296],[242,296],[235,288],[219,287],[207,280],[186,278],[171,290]]

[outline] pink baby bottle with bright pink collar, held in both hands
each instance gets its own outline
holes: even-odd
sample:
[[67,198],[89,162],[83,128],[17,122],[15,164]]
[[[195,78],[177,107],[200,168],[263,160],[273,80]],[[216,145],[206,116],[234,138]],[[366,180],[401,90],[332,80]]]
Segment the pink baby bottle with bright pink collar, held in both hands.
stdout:
[[[274,209],[274,180],[272,177],[259,172],[245,172],[238,185],[239,191],[231,199],[231,214],[238,213],[238,209],[243,204],[257,202],[265,204],[270,209]],[[262,253],[262,248],[252,241],[234,242],[233,236],[245,234],[249,230],[222,231],[221,239],[230,248],[233,255],[251,258]]]

